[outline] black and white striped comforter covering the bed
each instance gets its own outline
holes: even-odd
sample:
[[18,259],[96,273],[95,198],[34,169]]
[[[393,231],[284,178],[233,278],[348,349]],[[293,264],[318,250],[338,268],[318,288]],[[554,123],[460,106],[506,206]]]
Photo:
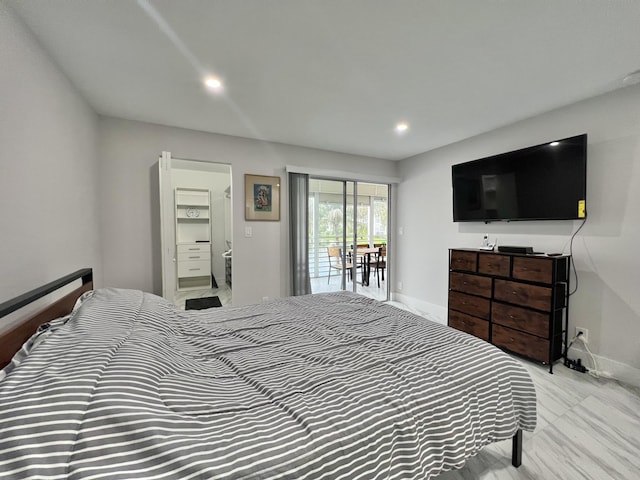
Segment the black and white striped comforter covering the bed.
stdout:
[[0,478],[424,480],[536,423],[518,362],[347,292],[101,289],[37,342],[0,381]]

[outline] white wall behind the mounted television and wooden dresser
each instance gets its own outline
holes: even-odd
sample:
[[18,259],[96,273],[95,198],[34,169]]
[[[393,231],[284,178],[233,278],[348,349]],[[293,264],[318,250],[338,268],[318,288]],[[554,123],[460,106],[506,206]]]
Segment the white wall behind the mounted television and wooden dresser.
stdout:
[[570,332],[575,326],[589,329],[591,350],[605,369],[639,369],[640,86],[400,162],[396,220],[404,235],[396,245],[395,278],[403,282],[399,298],[446,322],[448,249],[477,247],[484,233],[502,245],[567,253],[578,221],[453,223],[451,165],[585,132],[588,219],[573,245],[579,288],[570,300]]

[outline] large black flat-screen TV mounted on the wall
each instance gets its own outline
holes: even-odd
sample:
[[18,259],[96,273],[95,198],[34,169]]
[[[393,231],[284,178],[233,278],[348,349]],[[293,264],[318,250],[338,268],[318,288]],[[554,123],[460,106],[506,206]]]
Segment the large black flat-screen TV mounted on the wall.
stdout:
[[585,218],[587,135],[453,165],[451,176],[454,222]]

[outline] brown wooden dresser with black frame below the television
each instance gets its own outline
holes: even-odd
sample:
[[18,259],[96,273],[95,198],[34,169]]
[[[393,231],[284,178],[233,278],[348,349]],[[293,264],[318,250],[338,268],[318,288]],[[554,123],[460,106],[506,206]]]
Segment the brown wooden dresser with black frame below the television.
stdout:
[[553,373],[567,344],[570,259],[450,249],[449,326]]

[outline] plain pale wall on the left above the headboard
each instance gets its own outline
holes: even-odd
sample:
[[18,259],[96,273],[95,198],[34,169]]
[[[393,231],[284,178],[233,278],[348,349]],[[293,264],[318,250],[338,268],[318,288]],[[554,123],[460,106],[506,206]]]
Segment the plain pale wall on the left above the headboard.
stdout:
[[100,283],[97,117],[0,3],[0,302],[82,267]]

